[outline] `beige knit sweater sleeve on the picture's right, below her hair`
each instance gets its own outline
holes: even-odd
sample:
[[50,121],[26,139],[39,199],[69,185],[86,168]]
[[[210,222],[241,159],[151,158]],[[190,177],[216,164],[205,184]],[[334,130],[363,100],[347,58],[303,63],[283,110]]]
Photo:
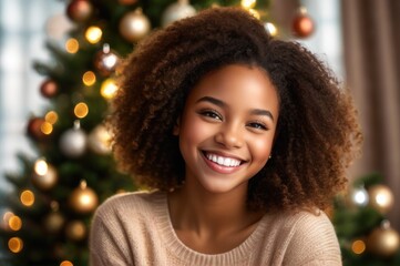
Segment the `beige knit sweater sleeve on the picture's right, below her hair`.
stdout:
[[342,265],[334,226],[322,212],[319,215],[301,213],[286,255],[284,265]]

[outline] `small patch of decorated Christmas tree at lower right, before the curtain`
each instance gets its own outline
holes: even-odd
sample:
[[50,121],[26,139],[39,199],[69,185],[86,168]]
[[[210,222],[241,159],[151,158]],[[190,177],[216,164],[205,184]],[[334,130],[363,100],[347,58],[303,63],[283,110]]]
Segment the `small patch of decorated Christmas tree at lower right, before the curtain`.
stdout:
[[386,216],[393,202],[379,174],[357,178],[337,197],[332,222],[345,266],[400,265],[400,237]]

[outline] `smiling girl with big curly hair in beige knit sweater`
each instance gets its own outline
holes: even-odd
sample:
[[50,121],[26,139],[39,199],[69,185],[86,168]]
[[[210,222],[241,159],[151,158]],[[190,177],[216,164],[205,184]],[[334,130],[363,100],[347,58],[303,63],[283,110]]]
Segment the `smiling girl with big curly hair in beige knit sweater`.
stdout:
[[341,265],[324,209],[361,134],[315,55],[215,8],[147,38],[122,76],[115,155],[154,191],[98,208],[91,265]]

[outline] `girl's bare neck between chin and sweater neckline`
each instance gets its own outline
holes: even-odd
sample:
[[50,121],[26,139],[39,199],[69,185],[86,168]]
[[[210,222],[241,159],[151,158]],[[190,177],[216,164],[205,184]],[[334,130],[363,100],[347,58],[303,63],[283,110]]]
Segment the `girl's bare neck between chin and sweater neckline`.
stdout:
[[235,232],[257,222],[261,214],[248,211],[247,187],[229,193],[191,190],[188,184],[168,195],[170,214],[177,231],[197,234]]

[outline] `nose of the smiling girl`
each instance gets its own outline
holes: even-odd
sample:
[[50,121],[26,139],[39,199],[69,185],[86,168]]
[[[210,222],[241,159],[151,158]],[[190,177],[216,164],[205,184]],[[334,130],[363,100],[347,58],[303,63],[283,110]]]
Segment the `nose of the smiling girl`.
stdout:
[[215,135],[215,141],[226,149],[238,149],[243,145],[243,132],[239,126],[225,124]]

